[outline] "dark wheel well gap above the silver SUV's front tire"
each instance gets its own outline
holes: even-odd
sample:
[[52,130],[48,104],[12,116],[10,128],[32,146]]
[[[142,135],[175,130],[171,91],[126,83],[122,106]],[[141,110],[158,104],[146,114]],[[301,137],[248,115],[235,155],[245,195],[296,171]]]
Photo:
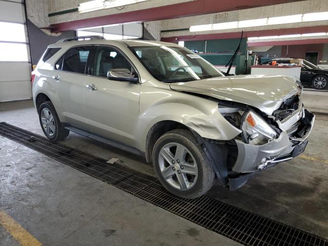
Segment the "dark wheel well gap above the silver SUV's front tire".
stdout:
[[152,161],[153,149],[154,149],[154,145],[155,145],[155,142],[157,141],[157,139],[161,135],[163,135],[169,131],[172,131],[174,129],[190,130],[185,125],[183,125],[179,122],[173,121],[173,120],[163,120],[163,121],[157,122],[154,126],[152,126],[152,128],[149,130],[149,132],[147,134],[147,139],[146,139],[146,160],[147,160],[147,162]]

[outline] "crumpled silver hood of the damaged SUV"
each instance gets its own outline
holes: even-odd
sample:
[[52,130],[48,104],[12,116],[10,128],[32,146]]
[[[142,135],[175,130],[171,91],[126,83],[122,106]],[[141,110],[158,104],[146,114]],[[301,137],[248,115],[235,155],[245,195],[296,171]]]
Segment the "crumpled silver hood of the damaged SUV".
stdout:
[[208,95],[236,101],[271,115],[281,103],[298,92],[295,81],[287,76],[238,75],[172,83],[172,90]]

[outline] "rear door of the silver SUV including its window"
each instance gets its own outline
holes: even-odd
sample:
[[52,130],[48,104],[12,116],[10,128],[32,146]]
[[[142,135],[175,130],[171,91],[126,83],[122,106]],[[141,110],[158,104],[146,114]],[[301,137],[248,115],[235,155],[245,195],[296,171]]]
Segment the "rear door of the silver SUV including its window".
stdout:
[[61,121],[74,126],[86,127],[84,88],[87,81],[86,68],[92,46],[69,49],[55,64],[52,88],[49,93],[57,98],[54,105]]

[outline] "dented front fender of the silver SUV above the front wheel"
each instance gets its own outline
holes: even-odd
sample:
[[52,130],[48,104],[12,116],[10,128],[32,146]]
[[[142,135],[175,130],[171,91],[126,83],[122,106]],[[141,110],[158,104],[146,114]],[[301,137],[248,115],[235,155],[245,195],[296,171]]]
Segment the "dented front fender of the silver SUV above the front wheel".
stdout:
[[[179,122],[203,138],[230,140],[241,133],[220,114],[216,99],[172,91],[168,85],[167,90],[158,88],[154,91],[154,88],[147,88],[145,84],[140,95],[137,130],[137,133],[142,134],[142,142],[146,142],[152,126],[165,120]],[[145,151],[145,146],[140,147]]]

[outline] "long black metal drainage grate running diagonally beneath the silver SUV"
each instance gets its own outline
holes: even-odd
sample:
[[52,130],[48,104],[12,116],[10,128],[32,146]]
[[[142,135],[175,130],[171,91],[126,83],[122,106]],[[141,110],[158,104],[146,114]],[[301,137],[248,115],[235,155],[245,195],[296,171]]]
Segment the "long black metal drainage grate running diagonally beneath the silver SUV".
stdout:
[[0,123],[0,135],[98,178],[199,226],[244,245],[320,245],[328,241],[207,196],[188,200],[166,191],[150,175]]

